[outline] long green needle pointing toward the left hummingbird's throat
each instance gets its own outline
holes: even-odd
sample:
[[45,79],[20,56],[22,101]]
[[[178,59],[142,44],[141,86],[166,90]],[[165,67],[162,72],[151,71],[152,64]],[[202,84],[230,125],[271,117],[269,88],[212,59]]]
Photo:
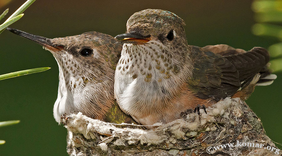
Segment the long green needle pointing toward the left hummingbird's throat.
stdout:
[[16,71],[16,72],[13,72],[13,73],[0,75],[0,80],[12,78],[12,77],[17,77],[17,76],[23,76],[23,75],[32,74],[32,73],[38,73],[38,72],[42,72],[42,71],[47,71],[48,69],[50,69],[50,67],[42,67],[42,68],[28,69],[28,70],[24,70],[24,71]]

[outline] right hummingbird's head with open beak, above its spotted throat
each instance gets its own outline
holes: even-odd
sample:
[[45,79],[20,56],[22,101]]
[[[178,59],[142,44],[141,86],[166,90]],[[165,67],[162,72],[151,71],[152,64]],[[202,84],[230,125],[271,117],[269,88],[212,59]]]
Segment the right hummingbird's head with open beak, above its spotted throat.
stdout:
[[118,43],[145,44],[159,41],[167,46],[186,41],[185,22],[172,12],[146,9],[134,13],[127,21],[127,33],[117,35]]

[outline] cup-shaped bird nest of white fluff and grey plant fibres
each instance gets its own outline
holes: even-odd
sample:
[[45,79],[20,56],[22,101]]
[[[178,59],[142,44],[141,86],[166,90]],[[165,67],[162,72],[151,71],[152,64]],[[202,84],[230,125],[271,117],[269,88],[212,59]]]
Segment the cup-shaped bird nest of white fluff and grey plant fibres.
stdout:
[[[226,98],[208,107],[207,114],[203,110],[200,113],[183,113],[182,119],[155,124],[157,128],[152,130],[142,129],[140,125],[106,123],[81,113],[71,114],[65,121],[67,152],[71,156],[278,156],[282,153],[266,136],[260,119],[239,98]],[[220,146],[230,143],[235,146],[237,142],[264,146]]]

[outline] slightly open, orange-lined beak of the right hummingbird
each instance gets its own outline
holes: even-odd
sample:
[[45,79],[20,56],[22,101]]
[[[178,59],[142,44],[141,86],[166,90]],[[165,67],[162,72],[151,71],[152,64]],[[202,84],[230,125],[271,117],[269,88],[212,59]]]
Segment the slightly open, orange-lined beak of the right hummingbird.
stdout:
[[117,35],[115,38],[121,38],[116,44],[132,43],[132,44],[144,44],[151,41],[151,35],[143,36],[138,31],[128,32],[125,34]]

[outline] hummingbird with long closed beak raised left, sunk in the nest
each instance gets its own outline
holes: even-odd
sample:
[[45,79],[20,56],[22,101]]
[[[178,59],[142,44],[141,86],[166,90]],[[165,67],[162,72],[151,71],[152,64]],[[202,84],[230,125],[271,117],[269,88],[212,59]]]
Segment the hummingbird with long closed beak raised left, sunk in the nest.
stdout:
[[50,39],[7,30],[38,43],[55,57],[59,88],[53,112],[59,124],[61,116],[77,112],[110,123],[136,123],[114,99],[114,74],[122,50],[115,44],[118,40],[100,32]]

